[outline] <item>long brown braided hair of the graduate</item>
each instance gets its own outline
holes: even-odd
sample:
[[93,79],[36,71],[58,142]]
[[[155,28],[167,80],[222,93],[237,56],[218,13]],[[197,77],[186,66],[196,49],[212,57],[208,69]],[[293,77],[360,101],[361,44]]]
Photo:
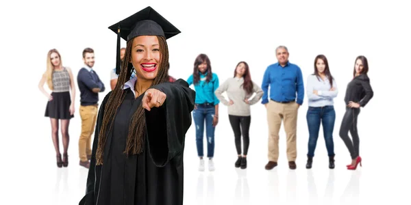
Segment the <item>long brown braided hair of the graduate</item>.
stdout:
[[[158,85],[167,81],[169,48],[164,37],[157,36],[157,38],[160,46],[160,66],[158,68],[159,70],[157,72],[157,76],[155,77],[151,85]],[[103,123],[101,124],[101,129],[99,132],[99,142],[97,145],[96,165],[103,164],[103,154],[105,141],[107,140],[107,133],[112,130],[116,111],[117,109],[119,109],[121,102],[123,102],[125,98],[125,90],[123,90],[123,85],[130,79],[132,75],[133,65],[131,63],[127,63],[132,59],[132,44],[133,39],[127,42],[125,56],[121,63],[119,80],[117,81],[116,87],[114,87],[114,90],[112,91],[112,94],[108,98],[108,102],[104,107]],[[138,78],[138,76],[136,77]],[[132,154],[140,154],[142,152],[146,135],[145,123],[145,111],[142,108],[142,102],[140,102],[140,106],[132,116],[132,120],[129,124],[129,133],[127,136],[127,142],[124,151],[127,156]],[[109,124],[110,128],[108,128]]]

